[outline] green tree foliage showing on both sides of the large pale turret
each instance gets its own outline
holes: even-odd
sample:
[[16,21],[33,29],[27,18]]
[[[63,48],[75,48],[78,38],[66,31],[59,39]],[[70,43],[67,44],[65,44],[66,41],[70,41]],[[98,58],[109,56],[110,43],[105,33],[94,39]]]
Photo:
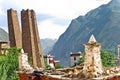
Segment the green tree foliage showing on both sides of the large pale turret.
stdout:
[[[82,54],[82,58],[79,59],[78,65],[84,62],[85,53]],[[113,53],[105,50],[101,50],[101,60],[104,67],[114,67],[116,66],[116,57]]]

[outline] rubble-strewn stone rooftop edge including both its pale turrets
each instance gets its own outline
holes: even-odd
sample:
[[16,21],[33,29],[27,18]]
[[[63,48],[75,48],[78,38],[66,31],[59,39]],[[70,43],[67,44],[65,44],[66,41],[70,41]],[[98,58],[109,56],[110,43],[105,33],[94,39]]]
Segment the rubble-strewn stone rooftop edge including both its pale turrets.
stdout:
[[44,78],[43,80],[109,80],[109,78],[120,76],[120,67],[105,68],[102,66],[100,48],[100,44],[96,43],[92,35],[89,43],[85,44],[85,61],[79,66],[48,70],[33,69],[28,64],[28,57],[24,51],[21,51],[19,64],[22,70],[32,71],[31,74],[38,75]]

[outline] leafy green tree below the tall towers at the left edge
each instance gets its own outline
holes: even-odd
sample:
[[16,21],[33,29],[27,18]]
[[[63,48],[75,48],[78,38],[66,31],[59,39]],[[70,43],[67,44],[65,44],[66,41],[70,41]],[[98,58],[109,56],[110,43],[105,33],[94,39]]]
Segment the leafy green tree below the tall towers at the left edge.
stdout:
[[18,54],[21,49],[6,49],[8,53],[0,56],[0,80],[18,80]]

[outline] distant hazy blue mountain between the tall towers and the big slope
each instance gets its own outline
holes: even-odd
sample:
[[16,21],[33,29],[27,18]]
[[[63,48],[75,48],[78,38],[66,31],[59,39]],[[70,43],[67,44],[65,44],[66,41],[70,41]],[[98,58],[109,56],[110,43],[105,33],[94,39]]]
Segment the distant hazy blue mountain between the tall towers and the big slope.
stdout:
[[41,39],[41,46],[44,55],[48,54],[49,51],[52,50],[56,41],[57,39],[49,39],[49,38]]

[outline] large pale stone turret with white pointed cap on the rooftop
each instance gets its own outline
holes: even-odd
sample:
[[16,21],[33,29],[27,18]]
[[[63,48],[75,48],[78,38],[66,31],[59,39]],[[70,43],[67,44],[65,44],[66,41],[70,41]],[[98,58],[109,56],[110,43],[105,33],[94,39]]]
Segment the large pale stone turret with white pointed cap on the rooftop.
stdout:
[[[101,45],[96,42],[92,35],[85,46],[85,61],[83,67],[83,74],[88,78],[98,77],[102,74],[102,63],[100,56]],[[99,74],[99,75],[98,75]]]

